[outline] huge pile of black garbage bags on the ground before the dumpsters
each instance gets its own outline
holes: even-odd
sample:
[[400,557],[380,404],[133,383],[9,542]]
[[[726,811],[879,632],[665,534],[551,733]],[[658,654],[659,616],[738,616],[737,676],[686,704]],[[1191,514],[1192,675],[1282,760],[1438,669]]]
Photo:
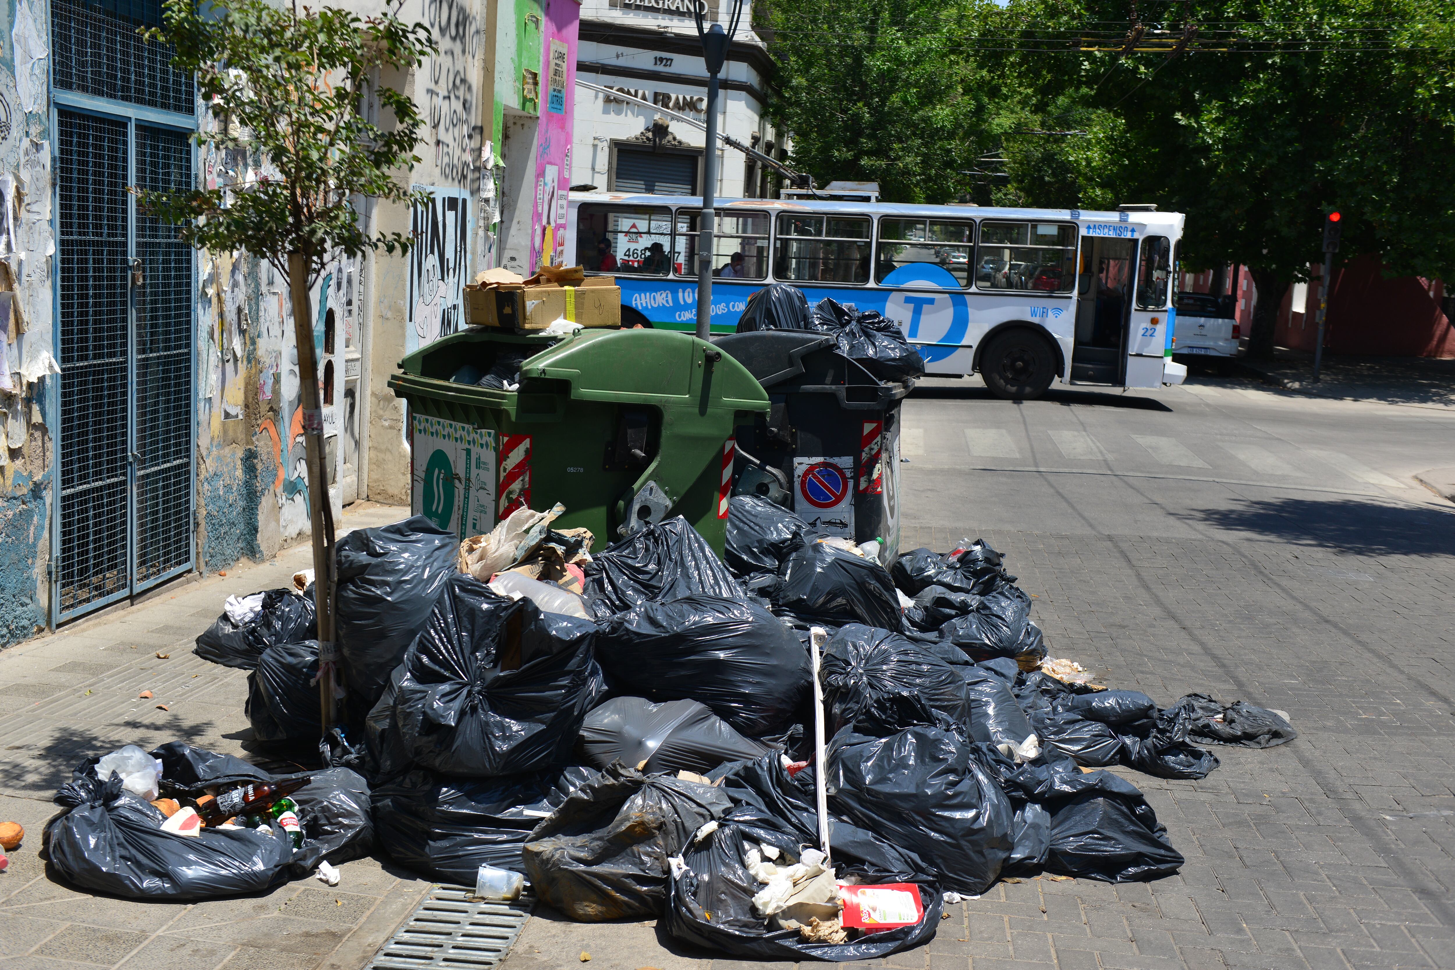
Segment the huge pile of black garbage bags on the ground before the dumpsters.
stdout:
[[[377,841],[448,883],[473,884],[482,865],[524,873],[573,919],[659,916],[678,939],[755,958],[877,958],[928,939],[947,891],[1037,871],[1177,871],[1147,800],[1103,769],[1202,778],[1218,759],[1200,745],[1295,736],[1241,702],[1158,708],[1052,676],[1067,675],[1043,669],[1032,598],[981,541],[886,569],[869,547],[733,497],[722,558],[681,518],[649,525],[592,557],[579,615],[461,573],[458,547],[419,516],[340,541],[348,723],[297,797],[303,849],[258,830],[164,833],[157,809],[92,761],[57,794],[57,870],[127,896],[204,899]],[[272,590],[246,622],[224,615],[198,638],[198,656],[250,670],[263,749],[317,745],[313,637],[311,602]],[[153,756],[163,794],[269,778],[182,743]],[[818,843],[821,774],[834,878],[912,886],[922,921],[815,937],[755,907],[762,861]]]

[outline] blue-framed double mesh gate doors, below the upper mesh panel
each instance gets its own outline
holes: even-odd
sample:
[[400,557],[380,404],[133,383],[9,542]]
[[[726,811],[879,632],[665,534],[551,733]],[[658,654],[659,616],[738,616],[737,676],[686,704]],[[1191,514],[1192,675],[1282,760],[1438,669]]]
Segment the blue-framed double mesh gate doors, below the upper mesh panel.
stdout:
[[188,185],[192,150],[122,119],[60,111],[58,127],[67,618],[192,564],[192,250],[127,191]]

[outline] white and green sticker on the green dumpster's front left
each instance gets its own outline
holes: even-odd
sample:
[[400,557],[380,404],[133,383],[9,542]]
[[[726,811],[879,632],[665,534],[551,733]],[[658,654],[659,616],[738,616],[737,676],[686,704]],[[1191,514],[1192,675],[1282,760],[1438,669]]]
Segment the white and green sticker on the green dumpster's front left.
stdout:
[[413,414],[410,510],[461,540],[495,528],[495,432]]

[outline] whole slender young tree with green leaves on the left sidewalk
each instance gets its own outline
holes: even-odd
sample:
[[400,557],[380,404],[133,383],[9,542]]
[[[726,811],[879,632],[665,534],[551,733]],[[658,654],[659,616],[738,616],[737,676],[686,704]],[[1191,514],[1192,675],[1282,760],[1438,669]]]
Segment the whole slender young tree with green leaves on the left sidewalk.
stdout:
[[[407,236],[370,236],[361,199],[426,202],[400,175],[419,159],[422,119],[413,100],[377,79],[407,76],[436,48],[422,23],[359,17],[335,7],[301,12],[262,0],[199,7],[167,0],[148,41],[173,45],[173,65],[198,79],[210,111],[198,144],[242,148],[259,175],[208,188],[140,193],[141,208],[214,253],[244,250],[287,276],[313,521],[313,566],[324,731],[333,720],[335,548],[323,467],[323,416],[308,289],[340,256],[404,252]],[[375,118],[375,119],[371,119]]]

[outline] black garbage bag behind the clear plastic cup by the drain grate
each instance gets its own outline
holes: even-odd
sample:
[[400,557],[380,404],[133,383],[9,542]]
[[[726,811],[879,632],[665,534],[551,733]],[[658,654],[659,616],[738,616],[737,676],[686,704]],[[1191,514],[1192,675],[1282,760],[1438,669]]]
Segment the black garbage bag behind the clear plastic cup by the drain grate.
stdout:
[[591,768],[445,778],[422,768],[374,790],[380,846],[399,864],[442,883],[474,886],[482,865],[525,871],[521,846],[566,795],[595,778]]

